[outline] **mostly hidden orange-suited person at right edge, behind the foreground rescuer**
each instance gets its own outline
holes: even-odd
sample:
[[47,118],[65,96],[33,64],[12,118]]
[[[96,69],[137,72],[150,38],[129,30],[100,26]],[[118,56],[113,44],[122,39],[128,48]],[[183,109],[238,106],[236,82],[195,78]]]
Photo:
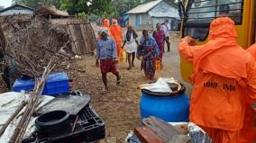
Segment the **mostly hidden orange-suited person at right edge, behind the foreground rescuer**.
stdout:
[[[256,44],[252,45],[247,51],[256,59]],[[254,126],[256,121],[255,113],[255,109],[251,108],[251,103],[246,103],[243,127],[240,131],[240,143],[256,142],[256,129],[255,127],[253,128],[253,121]]]

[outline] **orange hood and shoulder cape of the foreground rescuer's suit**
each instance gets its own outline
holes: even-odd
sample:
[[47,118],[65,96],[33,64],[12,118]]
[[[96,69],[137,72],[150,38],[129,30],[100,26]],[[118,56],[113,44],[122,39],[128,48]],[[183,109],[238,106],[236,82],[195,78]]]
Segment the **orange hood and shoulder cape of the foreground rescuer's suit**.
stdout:
[[221,17],[211,22],[209,40],[201,49],[194,49],[195,71],[203,69],[226,77],[246,77],[247,57],[236,42],[237,32],[234,22]]

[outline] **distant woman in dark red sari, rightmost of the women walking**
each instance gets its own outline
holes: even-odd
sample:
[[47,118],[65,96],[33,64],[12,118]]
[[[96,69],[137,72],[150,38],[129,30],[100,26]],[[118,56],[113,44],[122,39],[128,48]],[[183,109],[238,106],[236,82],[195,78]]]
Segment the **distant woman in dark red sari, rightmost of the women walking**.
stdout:
[[157,30],[153,32],[153,37],[159,46],[160,58],[162,59],[163,53],[164,53],[164,42],[166,37],[165,37],[164,31],[162,31],[160,28],[160,23],[157,23],[156,28]]

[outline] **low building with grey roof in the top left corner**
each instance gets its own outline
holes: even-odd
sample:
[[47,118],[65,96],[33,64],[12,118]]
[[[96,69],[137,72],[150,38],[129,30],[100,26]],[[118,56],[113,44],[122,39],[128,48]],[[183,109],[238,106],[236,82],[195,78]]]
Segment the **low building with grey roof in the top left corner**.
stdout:
[[33,14],[34,9],[21,4],[14,4],[3,10],[0,10],[0,15],[13,15],[13,14]]

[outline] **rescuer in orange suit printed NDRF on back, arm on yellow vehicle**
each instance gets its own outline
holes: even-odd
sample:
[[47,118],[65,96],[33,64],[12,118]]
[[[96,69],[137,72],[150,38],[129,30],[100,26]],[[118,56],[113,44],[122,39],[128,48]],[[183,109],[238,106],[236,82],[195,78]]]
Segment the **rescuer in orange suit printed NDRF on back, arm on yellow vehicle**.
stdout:
[[220,17],[211,22],[206,44],[192,46],[186,37],[178,48],[194,67],[189,119],[214,143],[239,142],[245,101],[256,100],[256,63],[236,38],[233,20]]

